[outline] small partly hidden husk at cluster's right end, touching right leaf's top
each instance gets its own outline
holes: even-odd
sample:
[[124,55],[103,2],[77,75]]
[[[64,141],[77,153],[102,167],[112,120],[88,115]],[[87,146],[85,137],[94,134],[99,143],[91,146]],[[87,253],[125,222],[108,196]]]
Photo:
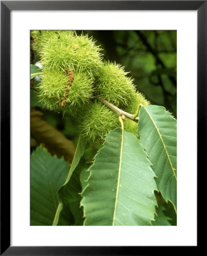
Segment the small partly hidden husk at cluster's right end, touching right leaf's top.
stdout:
[[134,92],[130,100],[127,102],[127,106],[123,110],[130,114],[135,114],[139,104],[147,106],[150,105],[150,101],[147,101],[142,93]]

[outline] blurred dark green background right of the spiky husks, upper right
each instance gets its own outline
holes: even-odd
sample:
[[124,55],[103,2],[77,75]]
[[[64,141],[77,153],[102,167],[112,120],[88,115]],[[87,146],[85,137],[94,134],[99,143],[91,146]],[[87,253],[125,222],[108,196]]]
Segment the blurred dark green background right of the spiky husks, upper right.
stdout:
[[77,31],[97,40],[104,59],[125,66],[139,92],[176,117],[177,31]]

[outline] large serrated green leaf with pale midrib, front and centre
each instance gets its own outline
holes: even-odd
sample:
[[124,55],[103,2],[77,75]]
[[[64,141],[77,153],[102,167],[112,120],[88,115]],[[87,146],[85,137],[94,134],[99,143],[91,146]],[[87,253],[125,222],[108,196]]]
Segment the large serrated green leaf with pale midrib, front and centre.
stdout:
[[155,174],[134,134],[123,126],[111,131],[88,171],[81,194],[84,225],[151,225]]

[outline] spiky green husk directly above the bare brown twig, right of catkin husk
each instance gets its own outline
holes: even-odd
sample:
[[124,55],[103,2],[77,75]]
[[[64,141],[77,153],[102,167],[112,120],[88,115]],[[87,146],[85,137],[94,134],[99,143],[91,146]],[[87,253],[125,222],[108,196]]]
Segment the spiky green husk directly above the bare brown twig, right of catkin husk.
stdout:
[[133,79],[127,77],[124,68],[109,61],[100,68],[96,86],[98,95],[117,107],[127,105],[135,92]]

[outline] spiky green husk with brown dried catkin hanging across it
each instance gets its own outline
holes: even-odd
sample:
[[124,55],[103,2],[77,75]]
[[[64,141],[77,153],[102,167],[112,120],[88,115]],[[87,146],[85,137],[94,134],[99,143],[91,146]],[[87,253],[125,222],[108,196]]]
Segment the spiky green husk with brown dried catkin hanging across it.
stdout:
[[86,73],[74,72],[74,80],[66,96],[68,79],[65,71],[43,71],[38,88],[39,102],[43,108],[73,115],[76,109],[82,108],[93,98],[93,80]]

